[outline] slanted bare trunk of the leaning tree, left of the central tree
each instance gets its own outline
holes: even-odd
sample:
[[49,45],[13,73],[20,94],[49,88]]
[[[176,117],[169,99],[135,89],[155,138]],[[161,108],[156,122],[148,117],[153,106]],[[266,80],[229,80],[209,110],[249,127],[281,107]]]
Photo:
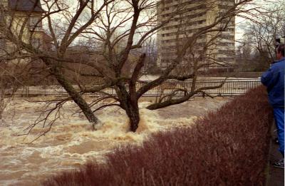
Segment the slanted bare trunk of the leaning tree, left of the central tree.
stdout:
[[71,96],[72,100],[78,105],[79,108],[81,108],[83,114],[92,124],[93,130],[95,130],[95,124],[97,124],[99,120],[92,112],[88,103],[86,103],[86,100],[84,100],[82,96],[76,91],[76,89],[73,88],[71,83],[63,76],[63,74],[58,70],[56,66],[54,66],[48,59],[44,59],[43,61],[47,66],[51,66],[51,68],[49,68],[50,73],[55,76],[58,83],[63,86],[68,95]]

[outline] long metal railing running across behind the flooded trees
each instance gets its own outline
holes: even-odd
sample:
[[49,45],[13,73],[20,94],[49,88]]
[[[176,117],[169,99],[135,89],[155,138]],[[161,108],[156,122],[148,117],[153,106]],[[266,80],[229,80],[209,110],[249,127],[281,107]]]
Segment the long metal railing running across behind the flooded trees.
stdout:
[[[222,79],[217,80],[198,80],[196,82],[196,89],[202,87],[209,86],[219,86],[222,83]],[[145,81],[144,83],[148,83],[150,81]],[[144,83],[138,83],[137,89],[143,86]],[[243,95],[251,88],[256,88],[261,85],[258,79],[230,79],[225,81],[224,86],[222,88],[209,89],[204,91],[209,95],[222,95],[222,96],[234,96],[234,95]],[[100,85],[98,85],[100,86]],[[76,90],[79,91],[78,86],[73,86]],[[155,96],[155,95],[167,95],[172,93],[177,88],[186,89],[190,91],[192,87],[192,82],[190,81],[165,81],[160,86],[152,88],[152,90],[147,91],[143,96]],[[18,88],[16,91],[13,88],[8,88],[5,91],[6,95],[14,94],[14,95],[68,95],[66,90],[61,86],[23,86]],[[115,89],[106,88],[104,90],[105,93],[115,95]],[[88,95],[103,95],[103,93],[88,93]],[[184,95],[184,92],[177,92],[177,96]],[[198,95],[202,95],[201,93]]]

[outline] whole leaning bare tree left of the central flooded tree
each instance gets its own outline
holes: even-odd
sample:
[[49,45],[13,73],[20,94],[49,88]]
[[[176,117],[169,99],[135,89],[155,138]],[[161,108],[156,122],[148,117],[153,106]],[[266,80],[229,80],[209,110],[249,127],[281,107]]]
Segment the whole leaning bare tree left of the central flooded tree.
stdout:
[[[77,5],[74,7],[64,4],[63,1],[43,1],[48,11],[39,17],[33,26],[31,26],[30,21],[36,9],[41,8],[39,7],[39,0],[31,1],[33,5],[28,6],[28,12],[24,16],[17,15],[18,7],[21,6],[20,8],[23,8],[25,6],[20,1],[16,1],[17,4],[8,8],[5,7],[5,4],[1,5],[1,15],[6,15],[1,20],[1,33],[16,46],[16,50],[12,51],[12,53],[20,53],[19,56],[11,56],[10,53],[7,56],[11,56],[11,58],[38,58],[41,60],[46,65],[48,72],[66,89],[68,95],[71,96],[78,107],[83,110],[86,118],[93,124],[98,123],[98,118],[90,110],[86,100],[82,98],[81,94],[73,88],[70,81],[63,75],[63,62],[66,61],[65,55],[68,46],[98,19],[100,11],[111,1],[102,1],[98,7],[95,1],[77,1]],[[28,1],[26,2],[28,4]],[[76,11],[73,11],[74,9]],[[89,17],[83,21],[81,17],[86,11],[89,11]],[[63,26],[60,27],[58,23],[52,21],[55,14],[65,18],[66,23],[63,23]],[[36,28],[42,23],[43,19],[47,19],[48,31],[51,33],[55,51],[47,52],[44,50],[44,47],[40,48],[33,43],[33,38],[36,36]],[[24,53],[24,55],[21,53]]]

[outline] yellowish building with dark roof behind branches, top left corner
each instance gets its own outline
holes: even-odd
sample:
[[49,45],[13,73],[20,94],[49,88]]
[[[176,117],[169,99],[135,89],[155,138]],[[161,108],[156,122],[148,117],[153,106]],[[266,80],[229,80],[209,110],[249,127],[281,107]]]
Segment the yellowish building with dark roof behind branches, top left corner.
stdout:
[[[0,53],[13,53],[17,49],[17,40],[31,43],[35,48],[51,48],[51,38],[43,31],[41,21],[44,12],[38,0],[2,0]],[[13,34],[9,34],[9,31]]]

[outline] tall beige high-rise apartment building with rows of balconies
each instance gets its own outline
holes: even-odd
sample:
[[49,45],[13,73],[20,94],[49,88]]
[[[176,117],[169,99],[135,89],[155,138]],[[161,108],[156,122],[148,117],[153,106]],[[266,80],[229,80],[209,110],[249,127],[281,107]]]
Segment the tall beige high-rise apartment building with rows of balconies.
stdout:
[[[214,23],[215,19],[223,12],[232,9],[234,0],[165,0],[157,6],[158,21],[165,21],[172,18],[157,33],[157,66],[165,69],[175,58],[177,48],[187,42],[195,33],[199,33],[203,28]],[[189,51],[183,59],[183,64],[187,64],[187,56],[196,56],[201,58],[203,63],[209,63],[204,66],[204,71],[211,68],[230,68],[234,64],[234,17],[224,19],[211,31],[197,37],[195,46]],[[205,49],[204,46],[207,46]],[[213,61],[213,63],[209,62]]]

